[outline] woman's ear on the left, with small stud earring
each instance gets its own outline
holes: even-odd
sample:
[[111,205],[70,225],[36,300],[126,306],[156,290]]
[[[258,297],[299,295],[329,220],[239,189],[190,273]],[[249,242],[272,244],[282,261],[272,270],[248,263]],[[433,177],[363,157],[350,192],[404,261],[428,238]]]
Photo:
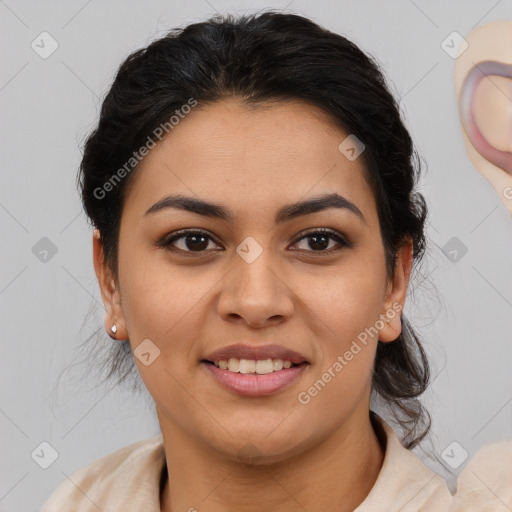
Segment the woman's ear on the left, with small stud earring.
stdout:
[[[98,279],[101,290],[101,297],[105,305],[105,330],[107,334],[114,339],[124,340],[128,338],[126,323],[124,321],[123,310],[121,307],[121,295],[119,287],[116,286],[116,280],[112,270],[105,261],[103,251],[103,242],[99,230],[95,229],[92,235],[92,252],[94,271]],[[111,331],[113,325],[116,325],[117,331],[114,334]]]

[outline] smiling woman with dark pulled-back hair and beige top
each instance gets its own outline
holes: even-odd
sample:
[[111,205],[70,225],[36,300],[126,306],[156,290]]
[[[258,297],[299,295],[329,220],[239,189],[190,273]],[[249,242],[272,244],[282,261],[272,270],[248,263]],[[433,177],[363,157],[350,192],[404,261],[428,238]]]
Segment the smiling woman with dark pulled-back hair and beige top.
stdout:
[[430,424],[403,315],[418,171],[378,65],[303,17],[217,17],[130,55],[79,183],[105,329],[162,435],[43,510],[447,510],[409,451]]

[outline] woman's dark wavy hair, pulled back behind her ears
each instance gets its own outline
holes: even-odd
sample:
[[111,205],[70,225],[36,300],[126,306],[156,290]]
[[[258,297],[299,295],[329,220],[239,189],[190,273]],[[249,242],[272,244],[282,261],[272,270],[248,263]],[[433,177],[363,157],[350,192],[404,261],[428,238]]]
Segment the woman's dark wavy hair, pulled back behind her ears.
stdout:
[[[106,197],[98,190],[190,98],[201,108],[228,97],[247,105],[302,100],[356,135],[365,145],[362,158],[376,198],[388,275],[408,238],[414,263],[420,260],[427,209],[415,191],[419,161],[378,64],[345,37],[307,18],[267,11],[216,16],[174,29],[119,68],[85,144],[78,176],[85,211],[100,231],[116,277],[123,200],[137,167]],[[402,322],[396,341],[379,342],[373,398],[390,407],[405,431],[406,446],[413,447],[430,425],[418,400],[428,385],[429,367],[420,340],[405,318]],[[133,361],[127,365],[124,358],[131,358],[130,351],[114,347],[109,376],[137,378]]]

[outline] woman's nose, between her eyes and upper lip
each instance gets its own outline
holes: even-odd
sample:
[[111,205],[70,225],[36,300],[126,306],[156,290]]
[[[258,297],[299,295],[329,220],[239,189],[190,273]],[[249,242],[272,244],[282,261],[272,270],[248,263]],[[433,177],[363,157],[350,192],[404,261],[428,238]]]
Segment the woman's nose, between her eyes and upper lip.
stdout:
[[293,283],[278,262],[265,249],[254,260],[238,253],[231,270],[225,275],[218,314],[226,321],[251,328],[276,326],[291,318],[294,312]]

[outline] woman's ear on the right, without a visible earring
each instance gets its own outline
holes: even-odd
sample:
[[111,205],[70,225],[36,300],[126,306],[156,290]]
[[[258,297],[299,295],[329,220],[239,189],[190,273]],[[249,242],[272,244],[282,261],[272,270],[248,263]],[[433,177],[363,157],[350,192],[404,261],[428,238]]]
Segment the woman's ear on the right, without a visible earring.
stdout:
[[411,238],[397,252],[395,275],[388,281],[383,311],[380,316],[384,324],[379,329],[379,341],[395,341],[402,332],[402,310],[407,294],[407,285],[411,275],[413,242]]

